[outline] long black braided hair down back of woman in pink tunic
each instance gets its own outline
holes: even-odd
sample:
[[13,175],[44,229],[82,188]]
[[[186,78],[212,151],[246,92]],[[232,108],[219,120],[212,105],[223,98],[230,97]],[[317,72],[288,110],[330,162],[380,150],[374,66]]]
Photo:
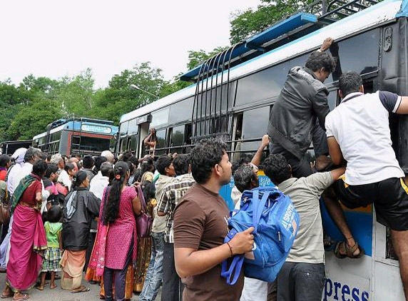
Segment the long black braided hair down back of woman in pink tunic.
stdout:
[[113,168],[115,178],[113,178],[111,190],[109,190],[106,210],[103,217],[104,225],[114,223],[116,218],[118,218],[121,190],[123,183],[125,182],[126,173],[128,172],[128,170],[128,163],[123,161],[119,161],[118,163],[116,163],[115,167]]

